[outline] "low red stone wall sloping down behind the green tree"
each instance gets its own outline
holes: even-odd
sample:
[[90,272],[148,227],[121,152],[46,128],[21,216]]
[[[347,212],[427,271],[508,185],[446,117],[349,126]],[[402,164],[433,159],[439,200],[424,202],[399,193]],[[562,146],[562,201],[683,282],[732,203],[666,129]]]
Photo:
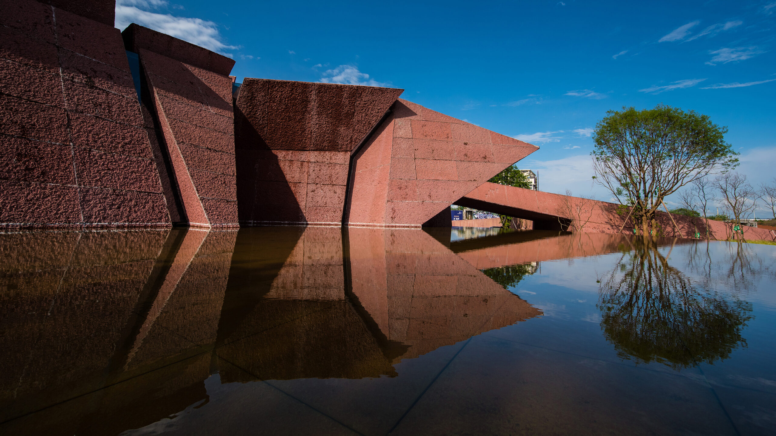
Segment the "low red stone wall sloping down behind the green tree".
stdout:
[[[538,230],[566,230],[566,223],[573,220],[587,220],[581,231],[587,233],[603,234],[632,234],[635,226],[633,218],[619,215],[617,206],[611,202],[599,202],[595,200],[568,197],[571,208],[566,206],[566,196],[550,192],[532,191],[531,189],[514,188],[513,186],[497,185],[496,183],[483,183],[462,199],[456,201],[460,206],[469,206],[476,209],[487,210],[493,213],[515,216],[534,221],[534,229]],[[584,202],[584,203],[582,203]],[[589,210],[581,216],[574,216],[569,209]],[[671,218],[673,217],[673,221]],[[560,220],[559,220],[560,219]],[[675,215],[658,211],[656,221],[663,229],[663,235],[667,237],[694,237],[696,231],[706,234],[706,223],[702,218]],[[674,226],[674,222],[676,226]],[[620,228],[622,227],[622,231]],[[732,236],[732,225],[721,221],[708,220],[710,237],[719,240],[729,239]],[[743,227],[744,237],[752,240],[772,240],[768,230],[754,227]]]

